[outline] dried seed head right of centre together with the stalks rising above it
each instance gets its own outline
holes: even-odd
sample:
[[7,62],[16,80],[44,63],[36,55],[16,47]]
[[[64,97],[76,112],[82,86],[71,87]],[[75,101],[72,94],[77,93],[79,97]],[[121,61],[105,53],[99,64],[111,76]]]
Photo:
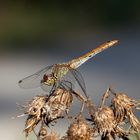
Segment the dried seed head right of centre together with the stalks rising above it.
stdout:
[[91,101],[87,102],[91,118],[89,120],[92,121],[94,136],[100,135],[102,140],[112,140],[116,137],[127,139],[127,132],[118,125],[113,109],[104,105],[108,97],[109,89],[103,94],[101,105],[98,108],[95,108]]

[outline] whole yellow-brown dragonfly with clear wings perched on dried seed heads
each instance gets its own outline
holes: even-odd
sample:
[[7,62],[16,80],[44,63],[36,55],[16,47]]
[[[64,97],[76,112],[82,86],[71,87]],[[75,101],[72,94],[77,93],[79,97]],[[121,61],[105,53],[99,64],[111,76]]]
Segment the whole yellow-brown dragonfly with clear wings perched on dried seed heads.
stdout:
[[77,68],[98,53],[114,46],[117,43],[118,40],[107,41],[81,57],[65,63],[47,66],[42,70],[20,80],[18,82],[19,86],[25,89],[41,87],[43,90],[51,92],[60,86],[60,84],[62,85],[62,83],[65,88],[72,88],[74,84],[71,83],[77,81],[83,93],[88,98],[84,79]]

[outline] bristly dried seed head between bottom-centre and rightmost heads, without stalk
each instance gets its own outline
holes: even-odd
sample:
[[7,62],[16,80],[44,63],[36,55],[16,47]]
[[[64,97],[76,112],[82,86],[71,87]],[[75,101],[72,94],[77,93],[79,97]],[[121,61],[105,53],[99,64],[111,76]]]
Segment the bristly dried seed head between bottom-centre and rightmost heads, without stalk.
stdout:
[[112,140],[116,136],[124,138],[127,135],[116,123],[114,112],[110,107],[98,108],[93,121],[93,131],[98,132],[102,140]]

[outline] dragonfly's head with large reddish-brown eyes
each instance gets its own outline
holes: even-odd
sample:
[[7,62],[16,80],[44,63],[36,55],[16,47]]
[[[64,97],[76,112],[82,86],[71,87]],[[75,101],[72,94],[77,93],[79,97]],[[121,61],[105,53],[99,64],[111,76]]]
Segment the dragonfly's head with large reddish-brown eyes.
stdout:
[[56,81],[56,79],[52,74],[50,74],[50,75],[45,74],[43,76],[43,80],[41,81],[41,83],[43,83],[47,86],[52,86],[52,85],[54,85],[55,81]]

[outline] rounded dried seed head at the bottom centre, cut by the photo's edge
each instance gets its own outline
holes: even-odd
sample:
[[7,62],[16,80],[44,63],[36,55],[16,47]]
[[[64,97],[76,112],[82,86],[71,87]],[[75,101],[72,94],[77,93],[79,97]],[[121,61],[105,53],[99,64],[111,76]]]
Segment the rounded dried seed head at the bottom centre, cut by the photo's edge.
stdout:
[[82,117],[79,117],[70,125],[63,140],[91,140],[92,136],[91,128]]

